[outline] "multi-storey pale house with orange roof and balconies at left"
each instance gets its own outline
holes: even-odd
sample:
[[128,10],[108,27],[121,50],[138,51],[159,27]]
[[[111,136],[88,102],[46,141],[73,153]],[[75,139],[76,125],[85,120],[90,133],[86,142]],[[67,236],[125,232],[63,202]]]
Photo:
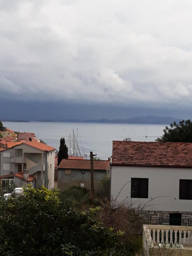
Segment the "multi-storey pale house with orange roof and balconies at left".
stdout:
[[[54,187],[55,148],[36,140],[0,150],[0,183]],[[28,175],[25,170],[28,170]],[[24,172],[24,173],[23,173]]]

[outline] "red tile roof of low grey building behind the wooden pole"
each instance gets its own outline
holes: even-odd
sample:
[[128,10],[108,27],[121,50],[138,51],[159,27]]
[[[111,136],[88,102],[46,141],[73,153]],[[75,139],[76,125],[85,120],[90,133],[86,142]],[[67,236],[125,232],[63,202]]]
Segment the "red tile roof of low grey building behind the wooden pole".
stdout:
[[[93,161],[94,170],[107,170],[107,167],[109,164],[110,164],[110,161],[108,161],[108,160],[94,160]],[[90,170],[91,164],[90,164],[90,160],[62,159],[58,168]]]

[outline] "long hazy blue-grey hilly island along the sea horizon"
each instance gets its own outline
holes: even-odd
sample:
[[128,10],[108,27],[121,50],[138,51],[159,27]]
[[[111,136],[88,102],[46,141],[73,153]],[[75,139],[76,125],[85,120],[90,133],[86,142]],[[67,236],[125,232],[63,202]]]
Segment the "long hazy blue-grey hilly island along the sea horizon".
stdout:
[[79,119],[62,119],[62,120],[50,120],[50,119],[44,119],[44,120],[37,120],[37,122],[75,122],[75,123],[113,123],[113,124],[170,124],[175,122],[179,122],[181,119],[166,116],[166,117],[160,117],[160,116],[137,116],[127,119],[90,119],[90,120],[79,120]]

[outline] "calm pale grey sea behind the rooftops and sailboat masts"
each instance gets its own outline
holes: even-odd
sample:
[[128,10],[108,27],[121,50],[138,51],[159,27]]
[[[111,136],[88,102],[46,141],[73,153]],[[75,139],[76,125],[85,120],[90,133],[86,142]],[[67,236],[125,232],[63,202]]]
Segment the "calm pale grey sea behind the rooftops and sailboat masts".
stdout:
[[[48,145],[59,148],[61,137],[65,137],[70,152],[69,134],[77,134],[81,154],[97,153],[101,159],[112,154],[112,140],[130,137],[132,141],[155,141],[163,134],[166,125],[139,124],[93,124],[93,123],[52,123],[52,122],[3,122],[5,127],[15,131],[33,132]],[[147,138],[145,138],[147,132]],[[82,147],[83,146],[83,147]],[[84,150],[84,153],[83,153]]]

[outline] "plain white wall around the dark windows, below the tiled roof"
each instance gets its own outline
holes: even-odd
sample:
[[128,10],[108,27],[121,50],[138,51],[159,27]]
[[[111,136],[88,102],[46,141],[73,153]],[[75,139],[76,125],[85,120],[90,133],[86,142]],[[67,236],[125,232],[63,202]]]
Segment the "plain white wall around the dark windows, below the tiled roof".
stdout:
[[[131,199],[131,178],[148,178],[148,199]],[[111,195],[116,198],[121,191],[118,201],[128,200],[137,207],[139,203],[149,202],[146,210],[155,211],[192,211],[192,200],[179,200],[179,180],[192,179],[192,168],[162,168],[162,167],[136,167],[112,166],[111,169]]]

